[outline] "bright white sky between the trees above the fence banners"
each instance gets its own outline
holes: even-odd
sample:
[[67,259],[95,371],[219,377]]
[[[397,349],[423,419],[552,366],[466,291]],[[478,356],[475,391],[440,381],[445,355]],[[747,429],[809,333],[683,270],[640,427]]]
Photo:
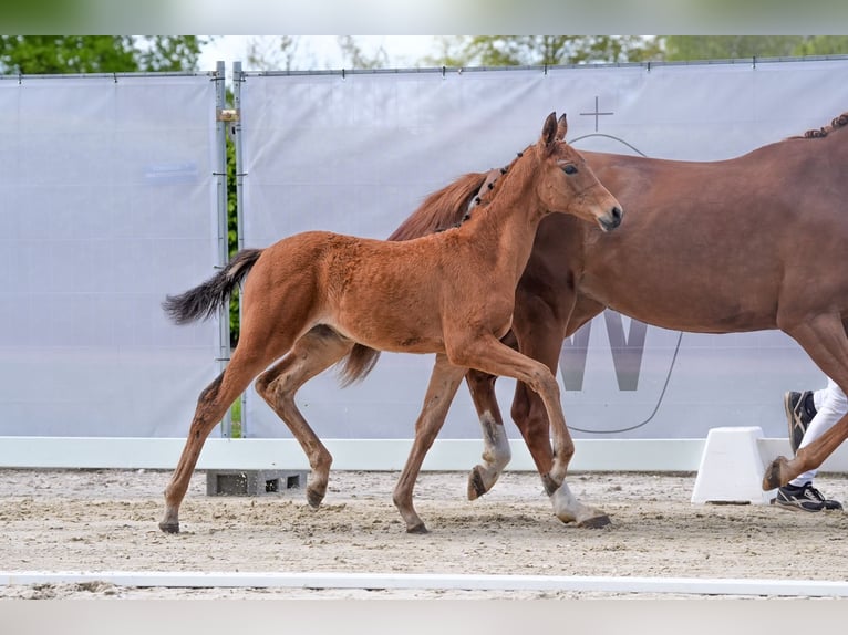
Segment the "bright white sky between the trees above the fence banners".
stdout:
[[[298,35],[297,70],[323,71],[342,69],[344,59],[338,44],[337,35]],[[381,46],[389,56],[389,66],[395,69],[415,67],[425,55],[434,55],[436,40],[434,35],[354,35],[362,52],[372,56]],[[242,70],[254,71],[247,63],[248,48],[251,41],[261,46],[273,46],[276,38],[271,35],[218,35],[207,44],[198,64],[200,71],[211,71],[217,61],[226,62],[228,71],[232,62],[240,61]],[[285,69],[279,69],[285,70]]]

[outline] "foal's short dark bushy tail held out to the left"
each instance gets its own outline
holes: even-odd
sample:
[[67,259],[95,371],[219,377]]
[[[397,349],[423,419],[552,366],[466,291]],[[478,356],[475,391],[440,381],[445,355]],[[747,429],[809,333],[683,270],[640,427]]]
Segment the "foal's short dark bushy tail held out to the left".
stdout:
[[179,295],[167,295],[162,308],[177,324],[208,320],[229,301],[232,290],[245,279],[261,254],[261,249],[242,249],[224,269],[203,284]]

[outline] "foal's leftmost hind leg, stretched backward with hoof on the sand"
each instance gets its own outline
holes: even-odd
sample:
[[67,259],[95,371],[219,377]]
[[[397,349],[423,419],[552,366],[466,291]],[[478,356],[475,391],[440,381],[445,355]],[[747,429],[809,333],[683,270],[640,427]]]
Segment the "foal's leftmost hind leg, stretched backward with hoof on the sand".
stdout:
[[206,437],[220,421],[232,402],[250,385],[250,381],[272,360],[262,353],[256,355],[246,353],[247,346],[237,347],[227,368],[197,398],[197,408],[186,445],[174,476],[165,489],[165,516],[159,522],[159,529],[166,533],[179,532],[179,504],[188,489],[188,481],[192,479],[192,472],[197,465]]

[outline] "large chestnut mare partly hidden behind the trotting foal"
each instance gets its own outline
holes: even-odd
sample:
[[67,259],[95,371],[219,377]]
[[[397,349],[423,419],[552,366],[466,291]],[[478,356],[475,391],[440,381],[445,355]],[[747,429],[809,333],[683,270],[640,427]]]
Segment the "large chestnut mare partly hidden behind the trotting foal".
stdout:
[[[585,152],[628,211],[613,235],[556,216],[539,226],[516,290],[513,333],[526,355],[556,372],[563,337],[609,306],[648,324],[694,333],[779,329],[848,393],[848,113],[808,131],[718,162],[679,162]],[[406,240],[449,226],[498,170],[465,177],[453,207],[421,208],[391,237]],[[361,346],[348,365],[375,363]],[[483,426],[483,464],[468,497],[495,483],[509,446],[495,377],[467,383]],[[520,383],[511,416],[540,473],[550,469],[548,421]],[[821,462],[848,437],[848,416],[794,459],[776,458],[768,490]]]

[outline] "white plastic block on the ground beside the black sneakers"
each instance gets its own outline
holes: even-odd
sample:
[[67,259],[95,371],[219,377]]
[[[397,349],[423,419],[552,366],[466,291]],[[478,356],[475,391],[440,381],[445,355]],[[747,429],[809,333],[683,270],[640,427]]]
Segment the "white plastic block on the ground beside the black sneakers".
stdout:
[[768,504],[774,490],[763,491],[765,461],[758,426],[712,428],[701,455],[693,503]]

